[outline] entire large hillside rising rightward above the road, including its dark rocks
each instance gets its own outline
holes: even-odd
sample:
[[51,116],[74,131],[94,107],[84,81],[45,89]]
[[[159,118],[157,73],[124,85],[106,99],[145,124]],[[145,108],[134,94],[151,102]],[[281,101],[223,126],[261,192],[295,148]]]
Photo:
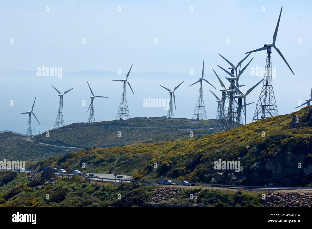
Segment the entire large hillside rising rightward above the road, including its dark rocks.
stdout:
[[[33,166],[37,169],[51,166],[74,170],[80,169],[83,162],[90,162],[92,172],[134,174],[134,179],[156,179],[163,175],[172,180],[201,183],[209,183],[215,178],[217,183],[226,184],[311,185],[310,108],[199,139],[81,150]],[[289,129],[294,114],[301,121],[296,128]],[[218,159],[240,161],[240,171],[215,170],[214,161]],[[154,163],[158,163],[157,169]]]

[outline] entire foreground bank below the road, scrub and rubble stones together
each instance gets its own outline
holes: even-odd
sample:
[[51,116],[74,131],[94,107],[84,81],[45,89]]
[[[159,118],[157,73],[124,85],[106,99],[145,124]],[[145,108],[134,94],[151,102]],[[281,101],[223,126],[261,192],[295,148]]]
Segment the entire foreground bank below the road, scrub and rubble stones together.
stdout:
[[312,207],[312,192],[301,190],[89,184],[80,176],[47,181],[12,171],[1,172],[0,181],[7,183],[0,183],[0,207]]

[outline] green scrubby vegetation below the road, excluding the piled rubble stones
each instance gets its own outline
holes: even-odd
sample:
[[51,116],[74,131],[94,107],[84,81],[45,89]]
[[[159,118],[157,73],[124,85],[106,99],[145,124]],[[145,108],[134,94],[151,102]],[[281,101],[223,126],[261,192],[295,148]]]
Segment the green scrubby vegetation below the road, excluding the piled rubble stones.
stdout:
[[[13,176],[12,173],[15,175]],[[13,178],[14,177],[14,178]],[[154,186],[146,184],[133,188],[131,183],[122,185],[88,184],[82,177],[57,179],[52,183],[45,183],[39,177],[31,175],[31,182],[27,182],[25,173],[1,172],[1,180],[10,180],[9,185],[0,186],[0,207],[113,207],[115,193],[115,207],[143,207],[144,202],[151,202]],[[26,181],[26,182],[25,182]],[[13,189],[11,184],[14,185]],[[39,185],[40,189],[35,189]],[[73,189],[73,188],[76,189]],[[192,205],[190,193],[202,190],[198,195],[198,202],[209,207],[263,207],[261,193],[248,191],[216,190],[210,188],[186,188],[172,199],[159,203]],[[127,197],[125,198],[125,191]],[[118,194],[122,199],[118,200]],[[46,194],[50,199],[46,200]],[[237,198],[238,197],[238,198]],[[218,203],[218,204],[217,204]]]

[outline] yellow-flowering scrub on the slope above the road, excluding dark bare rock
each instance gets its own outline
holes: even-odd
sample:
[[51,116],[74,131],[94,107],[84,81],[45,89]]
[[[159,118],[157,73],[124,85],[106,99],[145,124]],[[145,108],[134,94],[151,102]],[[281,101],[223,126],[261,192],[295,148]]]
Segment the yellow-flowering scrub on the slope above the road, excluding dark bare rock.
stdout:
[[[304,107],[295,113],[304,116],[309,109]],[[303,153],[305,162],[302,168],[312,164],[309,157],[312,154],[311,127],[300,124],[295,129],[288,129],[292,117],[293,113],[280,115],[199,139],[82,150],[34,166],[37,169],[51,166],[81,170],[83,162],[91,162],[91,171],[95,173],[135,173],[136,179],[156,179],[164,175],[171,179],[209,183],[216,172],[213,169],[215,160],[232,161],[241,157],[241,166],[247,172],[244,182],[251,184],[249,167],[272,158],[278,152]],[[266,132],[265,138],[262,131]],[[250,148],[246,149],[246,146]],[[254,152],[256,148],[258,150]],[[154,168],[155,162],[158,163],[157,169]],[[294,163],[297,166],[297,162]]]

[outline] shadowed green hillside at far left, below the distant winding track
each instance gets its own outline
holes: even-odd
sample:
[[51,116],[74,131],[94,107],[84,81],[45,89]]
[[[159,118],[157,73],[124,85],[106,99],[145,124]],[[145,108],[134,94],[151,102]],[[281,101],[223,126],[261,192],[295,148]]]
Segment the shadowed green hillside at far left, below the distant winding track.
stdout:
[[13,133],[0,133],[0,160],[38,161],[77,151],[63,147],[43,145],[27,141],[25,136]]

